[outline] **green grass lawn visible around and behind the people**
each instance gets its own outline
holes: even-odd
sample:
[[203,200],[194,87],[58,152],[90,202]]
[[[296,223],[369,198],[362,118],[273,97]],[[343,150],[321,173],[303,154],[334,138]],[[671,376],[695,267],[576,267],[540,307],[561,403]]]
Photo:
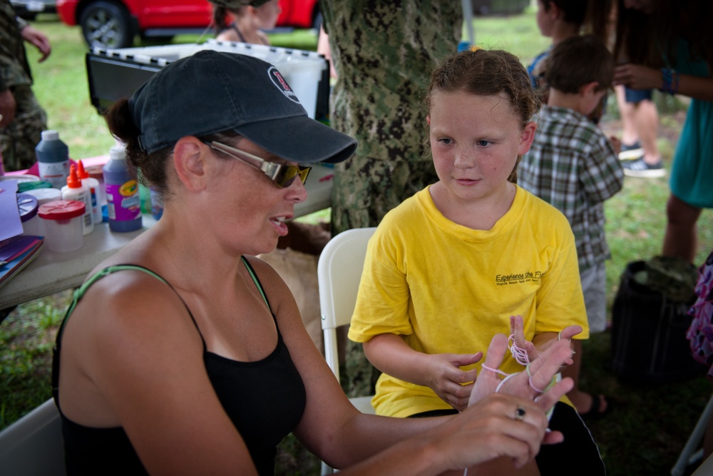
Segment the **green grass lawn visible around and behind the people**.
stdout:
[[[113,143],[101,117],[89,103],[84,54],[76,28],[40,16],[36,26],[50,36],[53,55],[43,64],[31,61],[35,91],[49,113],[49,125],[61,132],[73,158],[107,153]],[[512,51],[528,63],[548,46],[535,26],[533,9],[508,17],[479,17],[474,21],[476,43],[486,48]],[[180,36],[174,42],[198,41]],[[311,31],[272,36],[275,46],[311,49],[317,38]],[[139,46],[139,44],[137,44]],[[677,98],[658,95],[661,114],[660,149],[670,169],[674,142],[680,131],[684,105]],[[607,133],[620,135],[615,101],[602,121]],[[607,288],[611,304],[622,271],[632,260],[660,253],[665,228],[667,179],[627,178],[624,189],[606,203],[607,240],[612,260],[607,263]],[[307,221],[328,220],[322,211]],[[713,248],[713,211],[699,219],[697,263]],[[68,303],[68,293],[20,305],[0,325],[0,429],[51,396],[49,363],[56,323]],[[615,410],[590,428],[600,445],[607,473],[618,475],[667,475],[702,411],[712,386],[705,378],[665,385],[637,384],[620,380],[607,368],[611,357],[610,334],[602,333],[584,343],[582,386],[604,393]],[[294,438],[280,447],[279,475],[318,474],[319,462],[307,455]]]

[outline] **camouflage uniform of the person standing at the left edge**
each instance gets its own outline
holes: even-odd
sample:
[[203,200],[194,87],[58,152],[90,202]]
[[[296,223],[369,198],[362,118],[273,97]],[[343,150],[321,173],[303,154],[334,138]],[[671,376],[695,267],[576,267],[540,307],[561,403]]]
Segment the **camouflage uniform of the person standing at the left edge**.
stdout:
[[47,115],[32,93],[32,74],[21,36],[26,21],[16,18],[9,0],[0,0],[0,91],[10,89],[17,108],[15,120],[0,129],[0,152],[6,171],[36,162],[35,146],[47,128]]

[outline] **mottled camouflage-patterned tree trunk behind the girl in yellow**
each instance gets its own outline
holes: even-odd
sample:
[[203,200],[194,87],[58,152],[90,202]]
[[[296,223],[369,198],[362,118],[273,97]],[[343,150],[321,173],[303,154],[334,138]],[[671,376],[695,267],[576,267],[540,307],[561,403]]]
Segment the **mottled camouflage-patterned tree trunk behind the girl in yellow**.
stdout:
[[[438,180],[421,101],[431,71],[456,52],[463,12],[456,0],[322,0],[339,78],[330,121],[359,147],[335,166],[332,233],[376,226],[387,211]],[[349,342],[350,396],[374,392],[376,371]]]

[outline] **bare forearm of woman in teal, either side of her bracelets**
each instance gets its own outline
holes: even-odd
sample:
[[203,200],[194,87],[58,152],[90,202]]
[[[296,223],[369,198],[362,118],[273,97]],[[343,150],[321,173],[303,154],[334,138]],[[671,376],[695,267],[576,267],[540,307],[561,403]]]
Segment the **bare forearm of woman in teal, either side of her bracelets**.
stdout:
[[[660,89],[664,85],[664,80],[660,69],[638,64],[622,64],[614,71],[614,83],[632,89]],[[681,74],[677,94],[701,101],[713,101],[713,78]]]

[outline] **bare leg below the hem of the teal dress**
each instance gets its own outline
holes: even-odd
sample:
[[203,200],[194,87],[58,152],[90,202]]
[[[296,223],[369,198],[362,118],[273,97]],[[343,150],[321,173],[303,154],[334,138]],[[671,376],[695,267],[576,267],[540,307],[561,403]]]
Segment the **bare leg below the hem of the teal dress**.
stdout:
[[701,209],[669,196],[666,204],[666,234],[663,255],[680,256],[693,263],[696,258],[698,227]]

